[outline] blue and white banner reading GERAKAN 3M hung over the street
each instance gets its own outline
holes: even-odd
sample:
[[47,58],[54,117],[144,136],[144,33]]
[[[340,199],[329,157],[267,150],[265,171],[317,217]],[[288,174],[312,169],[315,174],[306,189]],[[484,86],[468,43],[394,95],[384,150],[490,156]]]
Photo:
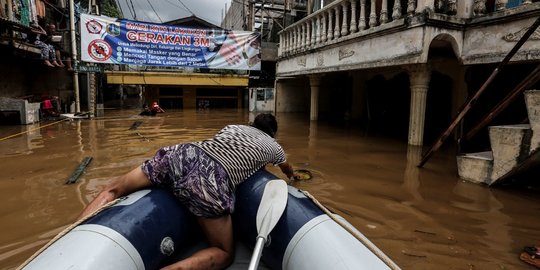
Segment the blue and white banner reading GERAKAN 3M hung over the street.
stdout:
[[259,33],[197,29],[81,14],[81,60],[210,69],[261,69]]

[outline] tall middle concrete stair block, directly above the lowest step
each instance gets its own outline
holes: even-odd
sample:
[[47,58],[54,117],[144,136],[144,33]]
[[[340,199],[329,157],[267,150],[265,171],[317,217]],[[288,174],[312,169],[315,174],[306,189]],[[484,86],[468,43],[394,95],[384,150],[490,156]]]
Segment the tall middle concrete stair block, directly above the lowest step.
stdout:
[[500,177],[519,165],[530,151],[532,130],[528,124],[490,126],[489,139],[493,152],[493,184]]

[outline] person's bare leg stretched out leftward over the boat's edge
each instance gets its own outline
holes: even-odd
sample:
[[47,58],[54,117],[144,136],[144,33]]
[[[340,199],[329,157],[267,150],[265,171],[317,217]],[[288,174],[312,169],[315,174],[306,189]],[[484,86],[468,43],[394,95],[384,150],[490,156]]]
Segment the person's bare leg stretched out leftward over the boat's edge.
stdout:
[[107,185],[98,196],[86,206],[77,219],[86,217],[103,205],[121,196],[149,187],[151,184],[152,183],[148,180],[146,174],[143,173],[141,167],[137,167],[127,174],[116,178],[112,183]]

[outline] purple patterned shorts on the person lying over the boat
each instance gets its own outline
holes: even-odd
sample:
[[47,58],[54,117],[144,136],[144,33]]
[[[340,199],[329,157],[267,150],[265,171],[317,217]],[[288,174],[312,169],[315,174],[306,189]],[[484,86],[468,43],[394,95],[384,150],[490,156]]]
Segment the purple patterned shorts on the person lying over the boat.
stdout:
[[234,210],[235,193],[221,164],[192,144],[167,146],[143,162],[142,171],[198,217],[219,217]]

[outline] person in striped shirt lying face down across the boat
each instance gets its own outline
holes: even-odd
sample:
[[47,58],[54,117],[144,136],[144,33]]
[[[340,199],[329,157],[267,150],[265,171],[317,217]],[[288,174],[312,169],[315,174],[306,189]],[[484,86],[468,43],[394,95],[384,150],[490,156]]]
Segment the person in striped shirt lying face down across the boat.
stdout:
[[231,213],[236,187],[269,163],[289,179],[296,176],[274,139],[277,127],[273,115],[260,114],[251,126],[228,125],[212,139],[161,148],[107,185],[79,219],[134,191],[165,188],[197,217],[209,247],[163,269],[223,269],[234,259]]

